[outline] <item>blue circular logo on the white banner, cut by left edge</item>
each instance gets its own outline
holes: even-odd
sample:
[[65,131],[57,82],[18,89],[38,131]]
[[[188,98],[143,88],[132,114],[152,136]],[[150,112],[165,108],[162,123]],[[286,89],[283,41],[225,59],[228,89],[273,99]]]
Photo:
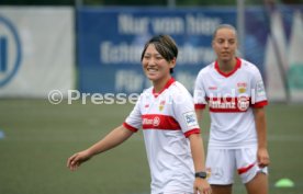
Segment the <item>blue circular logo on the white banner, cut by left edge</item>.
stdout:
[[0,15],[0,87],[15,76],[21,62],[21,42],[14,25]]

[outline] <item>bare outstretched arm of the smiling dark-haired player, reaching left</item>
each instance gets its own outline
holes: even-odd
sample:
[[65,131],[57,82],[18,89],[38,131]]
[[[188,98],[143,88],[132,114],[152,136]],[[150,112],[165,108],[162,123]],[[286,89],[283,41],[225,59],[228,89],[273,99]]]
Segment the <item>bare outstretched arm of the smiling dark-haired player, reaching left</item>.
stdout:
[[70,170],[77,170],[77,168],[89,160],[94,155],[104,152],[109,149],[116,147],[122,144],[124,140],[128,139],[134,132],[125,128],[123,125],[113,129],[110,134],[108,134],[103,139],[92,145],[90,148],[77,152],[68,158],[67,167]]

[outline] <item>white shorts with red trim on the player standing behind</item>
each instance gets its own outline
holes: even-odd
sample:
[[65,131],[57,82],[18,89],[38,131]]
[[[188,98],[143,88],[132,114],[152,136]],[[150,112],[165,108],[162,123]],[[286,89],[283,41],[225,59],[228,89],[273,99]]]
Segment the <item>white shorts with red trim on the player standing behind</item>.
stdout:
[[242,182],[252,180],[258,172],[268,174],[267,168],[257,164],[257,148],[242,149],[209,149],[206,171],[210,173],[209,183],[227,185],[234,183],[234,173],[237,171]]

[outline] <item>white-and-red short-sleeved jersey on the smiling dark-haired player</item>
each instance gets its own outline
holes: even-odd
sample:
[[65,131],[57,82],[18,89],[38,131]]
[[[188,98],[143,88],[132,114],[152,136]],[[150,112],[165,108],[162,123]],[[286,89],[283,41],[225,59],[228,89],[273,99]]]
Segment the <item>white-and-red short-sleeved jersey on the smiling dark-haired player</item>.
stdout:
[[187,137],[200,134],[193,99],[187,89],[171,78],[156,94],[145,90],[124,126],[143,129],[152,174],[152,193],[193,192],[193,161]]

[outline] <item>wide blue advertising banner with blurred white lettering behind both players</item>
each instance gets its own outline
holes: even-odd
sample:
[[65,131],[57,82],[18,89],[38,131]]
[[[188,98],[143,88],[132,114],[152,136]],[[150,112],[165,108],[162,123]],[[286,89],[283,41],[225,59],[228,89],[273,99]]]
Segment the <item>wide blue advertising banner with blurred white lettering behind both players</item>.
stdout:
[[[259,68],[273,101],[287,101],[287,96],[303,100],[302,79],[292,68],[293,64],[296,69],[302,64],[299,57],[292,57],[302,50],[298,48],[303,36],[301,12],[302,7],[282,7],[272,12],[265,7],[245,10],[245,56],[238,56]],[[81,92],[142,92],[150,83],[143,75],[141,54],[145,42],[156,34],[169,34],[176,39],[180,55],[173,77],[192,91],[199,70],[215,59],[211,45],[215,27],[222,23],[236,26],[237,10],[83,8],[77,12],[77,19]]]

